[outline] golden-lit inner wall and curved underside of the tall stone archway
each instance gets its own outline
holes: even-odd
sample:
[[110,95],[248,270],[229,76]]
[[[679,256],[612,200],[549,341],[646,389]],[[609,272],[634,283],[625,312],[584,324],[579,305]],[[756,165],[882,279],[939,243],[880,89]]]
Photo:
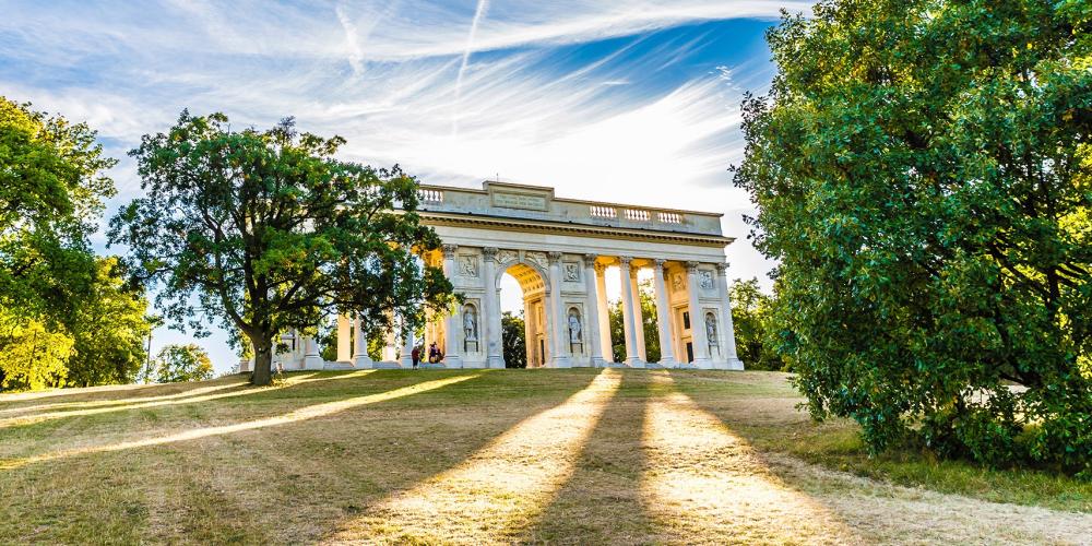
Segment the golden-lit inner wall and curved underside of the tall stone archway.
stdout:
[[[513,252],[514,254],[514,252]],[[524,340],[527,346],[527,367],[541,368],[550,358],[550,327],[555,317],[549,311],[549,273],[542,265],[515,254],[515,258],[505,261],[508,256],[498,257],[497,276],[494,287],[500,289],[500,281],[505,274],[512,275],[523,292]]]

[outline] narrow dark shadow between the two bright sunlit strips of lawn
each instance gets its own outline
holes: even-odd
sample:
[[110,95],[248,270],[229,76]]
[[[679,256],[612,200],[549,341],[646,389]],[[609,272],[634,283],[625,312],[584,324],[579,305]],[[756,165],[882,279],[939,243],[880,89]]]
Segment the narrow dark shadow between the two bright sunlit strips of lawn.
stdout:
[[650,394],[643,371],[622,375],[565,484],[539,523],[520,542],[548,544],[638,544],[648,542],[651,522],[638,488],[643,470],[641,438]]

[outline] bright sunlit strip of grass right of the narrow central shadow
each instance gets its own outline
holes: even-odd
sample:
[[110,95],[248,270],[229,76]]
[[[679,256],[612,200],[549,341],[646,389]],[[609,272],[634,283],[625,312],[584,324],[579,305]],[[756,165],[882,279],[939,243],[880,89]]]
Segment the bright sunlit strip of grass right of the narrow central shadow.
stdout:
[[687,377],[651,373],[643,438],[641,490],[662,533],[682,543],[859,542],[834,510],[786,482],[673,376]]

